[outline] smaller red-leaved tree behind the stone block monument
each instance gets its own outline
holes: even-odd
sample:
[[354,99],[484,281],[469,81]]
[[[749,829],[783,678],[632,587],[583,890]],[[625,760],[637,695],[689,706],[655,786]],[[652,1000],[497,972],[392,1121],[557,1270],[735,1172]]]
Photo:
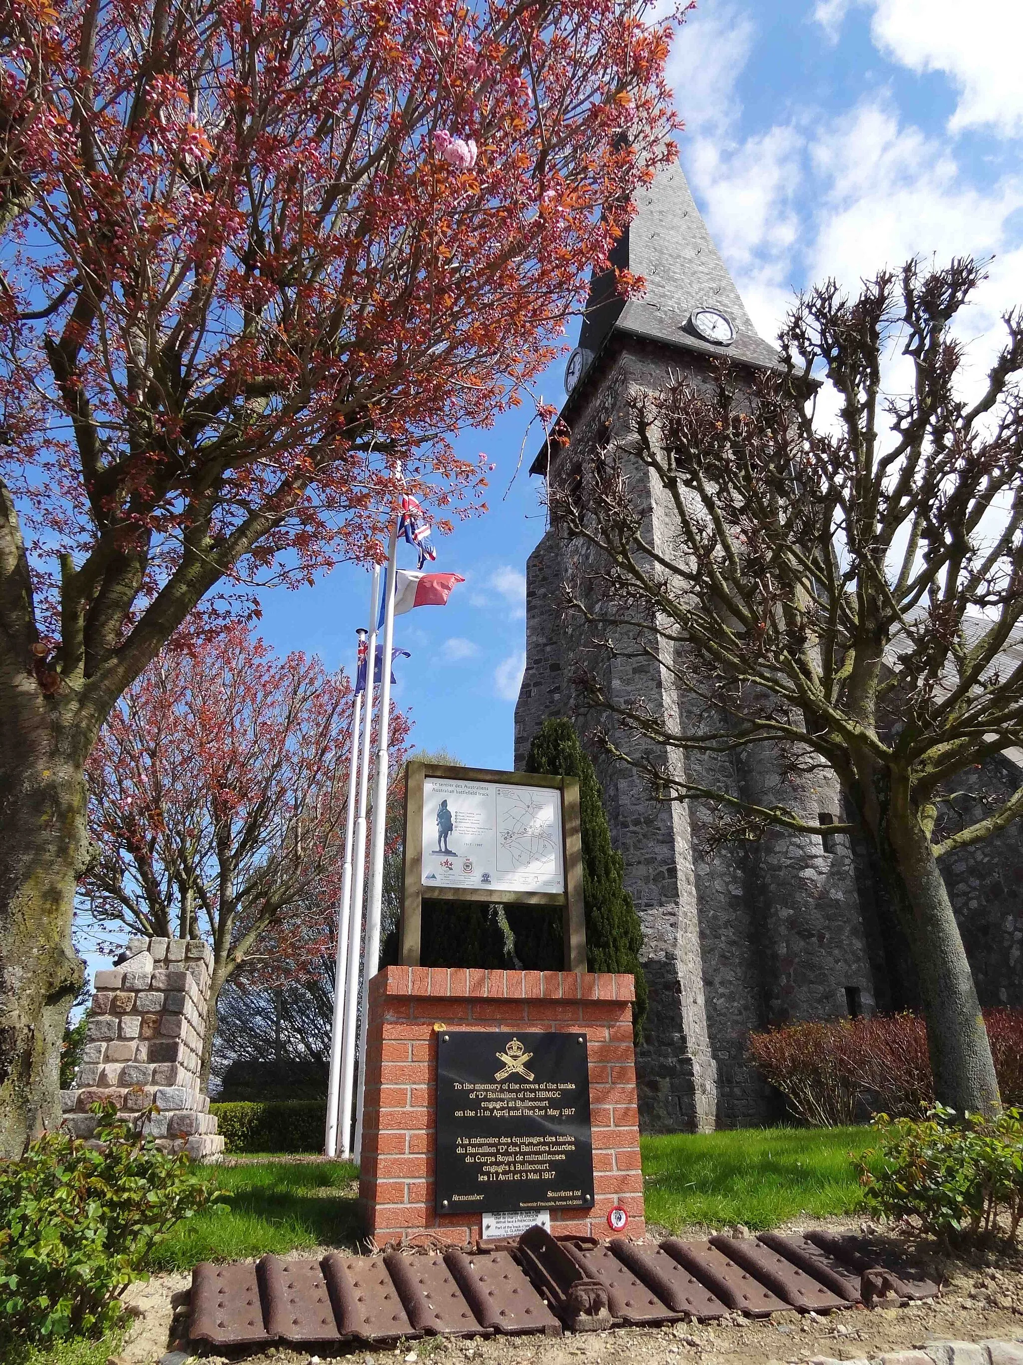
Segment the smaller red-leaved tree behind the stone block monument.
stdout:
[[[330,953],[348,801],[352,688],[235,624],[170,647],[113,707],[89,759],[101,925],[213,949],[203,1085],[224,984],[282,984]],[[394,768],[408,722],[391,713]]]

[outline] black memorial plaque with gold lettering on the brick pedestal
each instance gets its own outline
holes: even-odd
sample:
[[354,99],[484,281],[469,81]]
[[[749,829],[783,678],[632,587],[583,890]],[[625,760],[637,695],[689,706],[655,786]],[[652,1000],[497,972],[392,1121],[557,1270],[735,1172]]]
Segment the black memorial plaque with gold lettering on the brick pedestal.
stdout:
[[593,1207],[584,1033],[445,1032],[436,1052],[438,1213]]

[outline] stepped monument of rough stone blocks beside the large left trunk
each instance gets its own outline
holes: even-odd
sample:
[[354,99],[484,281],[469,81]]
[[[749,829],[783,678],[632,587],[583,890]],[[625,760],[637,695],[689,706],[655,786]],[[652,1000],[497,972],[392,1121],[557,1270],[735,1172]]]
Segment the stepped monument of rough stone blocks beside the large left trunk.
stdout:
[[134,938],[124,962],[95,973],[75,1087],[60,1092],[63,1126],[91,1138],[97,1100],[143,1126],[164,1152],[220,1160],[224,1138],[199,1085],[213,956],[188,939]]

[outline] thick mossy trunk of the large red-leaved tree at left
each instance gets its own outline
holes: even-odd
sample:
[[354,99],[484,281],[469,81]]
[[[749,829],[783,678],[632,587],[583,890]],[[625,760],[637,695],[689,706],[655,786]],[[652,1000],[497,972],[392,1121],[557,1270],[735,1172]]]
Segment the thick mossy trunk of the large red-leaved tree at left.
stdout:
[[[34,678],[0,741],[0,1156],[60,1122],[60,1041],[85,979],[71,940],[89,853],[87,738]],[[8,692],[10,702],[10,692]]]

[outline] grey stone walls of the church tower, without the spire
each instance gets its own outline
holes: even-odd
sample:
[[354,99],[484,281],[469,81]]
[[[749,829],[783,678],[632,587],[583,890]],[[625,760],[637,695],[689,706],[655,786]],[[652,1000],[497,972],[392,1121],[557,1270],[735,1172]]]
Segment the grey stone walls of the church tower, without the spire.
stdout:
[[[627,400],[636,389],[660,388],[667,362],[656,352],[622,355],[608,367],[576,420],[570,445],[554,459],[552,476],[565,476],[580,450],[627,435]],[[648,471],[637,464],[636,505],[648,519],[647,534],[663,541],[670,512]],[[668,721],[702,702],[678,688],[685,659],[664,657],[610,661],[588,650],[578,616],[565,612],[563,584],[599,592],[599,562],[589,547],[569,543],[552,527],[527,568],[527,669],[516,711],[516,763],[548,715],[570,715],[587,743],[596,717],[573,681],[593,667],[619,702],[645,698]],[[667,646],[663,646],[667,648]],[[674,669],[672,669],[674,662]],[[672,673],[675,676],[672,676]],[[689,718],[692,719],[692,717]],[[600,718],[607,723],[606,718]],[[636,738],[630,737],[630,748]],[[591,745],[591,751],[592,745]],[[674,751],[655,763],[683,762]],[[640,1106],[647,1130],[705,1130],[762,1123],[776,1117],[777,1100],[746,1061],[746,1036],[768,1021],[844,1014],[846,987],[858,1007],[873,1006],[870,964],[859,924],[853,859],[846,841],[825,853],[812,835],[783,837],[757,848],[724,846],[707,853],[711,814],[690,803],[659,803],[640,775],[593,752],[615,846],[625,857],[626,885],[644,928],[644,971],[651,994],[647,1040],[637,1055]],[[779,781],[758,759],[690,755],[708,785],[757,789]],[[816,775],[813,784],[820,786]],[[832,784],[833,785],[833,779]],[[824,786],[828,786],[827,779]],[[807,790],[802,805],[810,820],[837,811]],[[792,793],[787,793],[792,800]],[[798,803],[797,803],[798,804]]]

